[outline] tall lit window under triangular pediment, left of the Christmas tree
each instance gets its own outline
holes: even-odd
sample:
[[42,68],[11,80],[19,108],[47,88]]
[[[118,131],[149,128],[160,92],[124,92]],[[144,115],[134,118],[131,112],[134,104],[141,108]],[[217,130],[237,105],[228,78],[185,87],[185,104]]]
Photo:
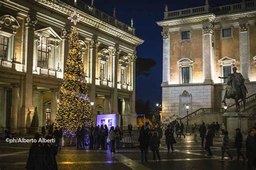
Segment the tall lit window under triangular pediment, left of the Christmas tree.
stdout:
[[46,37],[41,36],[39,40],[39,46],[37,48],[37,65],[48,67],[49,61],[49,48]]

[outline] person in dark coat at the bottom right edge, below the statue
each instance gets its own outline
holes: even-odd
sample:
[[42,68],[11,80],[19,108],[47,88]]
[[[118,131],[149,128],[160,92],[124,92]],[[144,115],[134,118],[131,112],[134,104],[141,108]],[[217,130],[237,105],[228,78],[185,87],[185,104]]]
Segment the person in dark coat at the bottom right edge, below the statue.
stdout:
[[248,159],[247,169],[255,170],[255,159],[256,159],[256,143],[254,139],[254,132],[251,129],[248,137],[246,138],[246,157]]

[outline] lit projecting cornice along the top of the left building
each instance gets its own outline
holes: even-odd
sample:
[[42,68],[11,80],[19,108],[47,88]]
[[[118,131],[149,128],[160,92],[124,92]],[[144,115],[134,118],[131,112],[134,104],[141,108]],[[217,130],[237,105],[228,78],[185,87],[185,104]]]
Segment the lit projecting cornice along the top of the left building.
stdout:
[[90,16],[87,13],[80,11],[76,8],[73,8],[71,6],[68,6],[62,2],[55,3],[52,1],[41,1],[38,3],[44,6],[47,6],[48,8],[52,8],[55,11],[59,11],[60,13],[63,13],[66,16],[70,16],[73,11],[77,11],[77,13],[79,13],[79,15],[83,17],[82,19],[80,19],[80,22],[96,27],[99,30],[112,34],[113,36],[123,39],[125,41],[128,41],[131,44],[140,45],[144,42],[144,40],[136,36],[126,33],[125,31],[122,31],[117,27],[114,27],[110,24],[103,22],[103,20]]

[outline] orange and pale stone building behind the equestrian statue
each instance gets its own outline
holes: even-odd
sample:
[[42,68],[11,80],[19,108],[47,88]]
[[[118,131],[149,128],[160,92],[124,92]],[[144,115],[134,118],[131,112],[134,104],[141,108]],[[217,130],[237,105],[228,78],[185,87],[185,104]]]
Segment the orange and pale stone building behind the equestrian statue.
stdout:
[[[163,27],[163,119],[201,108],[221,109],[226,82],[237,67],[256,93],[256,2],[168,11]],[[227,100],[227,107],[234,103]],[[216,121],[216,120],[212,120]],[[218,119],[217,119],[218,121]]]

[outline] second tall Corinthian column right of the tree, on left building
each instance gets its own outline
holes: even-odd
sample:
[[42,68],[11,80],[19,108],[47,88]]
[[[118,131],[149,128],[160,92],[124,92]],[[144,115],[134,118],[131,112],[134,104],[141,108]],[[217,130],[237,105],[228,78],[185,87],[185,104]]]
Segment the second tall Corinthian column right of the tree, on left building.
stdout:
[[112,114],[118,114],[118,98],[117,98],[117,62],[118,62],[119,49],[114,48],[112,52],[112,76],[113,76],[113,86],[112,91]]

